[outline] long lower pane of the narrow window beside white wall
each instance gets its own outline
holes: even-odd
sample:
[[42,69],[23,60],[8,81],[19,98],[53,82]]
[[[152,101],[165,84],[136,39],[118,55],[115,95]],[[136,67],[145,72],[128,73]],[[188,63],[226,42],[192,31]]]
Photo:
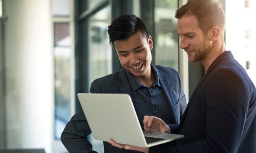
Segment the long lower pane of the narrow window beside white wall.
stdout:
[[55,138],[70,119],[70,58],[71,40],[69,23],[54,23],[54,64],[55,64]]

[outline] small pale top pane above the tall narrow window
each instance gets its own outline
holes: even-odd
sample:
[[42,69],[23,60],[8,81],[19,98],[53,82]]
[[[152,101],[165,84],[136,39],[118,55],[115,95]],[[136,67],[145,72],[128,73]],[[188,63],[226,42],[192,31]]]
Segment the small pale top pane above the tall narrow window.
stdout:
[[70,15],[70,0],[52,0],[52,15],[53,16],[69,16]]

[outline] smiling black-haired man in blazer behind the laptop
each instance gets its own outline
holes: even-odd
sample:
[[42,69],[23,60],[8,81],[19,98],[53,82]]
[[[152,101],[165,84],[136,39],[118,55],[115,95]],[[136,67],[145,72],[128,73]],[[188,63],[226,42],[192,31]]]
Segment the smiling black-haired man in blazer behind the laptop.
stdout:
[[[93,81],[90,92],[127,93],[133,100],[142,129],[143,116],[154,115],[175,130],[186,107],[179,73],[173,68],[151,63],[153,39],[139,17],[119,16],[108,28],[110,44],[115,47],[123,68]],[[87,139],[89,134],[90,127],[80,109],[67,123],[61,141],[72,153],[95,152]],[[109,142],[103,145],[105,153],[138,152],[114,147]]]

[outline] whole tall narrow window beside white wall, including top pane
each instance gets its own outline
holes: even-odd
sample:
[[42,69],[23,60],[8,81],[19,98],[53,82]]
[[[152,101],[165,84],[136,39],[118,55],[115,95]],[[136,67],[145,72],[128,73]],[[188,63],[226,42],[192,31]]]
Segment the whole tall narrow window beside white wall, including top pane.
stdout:
[[[71,35],[70,0],[52,0],[54,31],[54,137],[59,141],[61,133],[71,116]],[[61,17],[59,20],[58,17]]]

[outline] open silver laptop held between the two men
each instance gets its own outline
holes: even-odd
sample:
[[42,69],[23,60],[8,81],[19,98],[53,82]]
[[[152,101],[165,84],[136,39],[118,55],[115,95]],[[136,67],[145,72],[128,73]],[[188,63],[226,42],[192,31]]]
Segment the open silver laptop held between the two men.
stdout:
[[183,135],[142,131],[129,94],[78,93],[77,96],[97,140],[113,139],[120,144],[151,147],[184,138]]

